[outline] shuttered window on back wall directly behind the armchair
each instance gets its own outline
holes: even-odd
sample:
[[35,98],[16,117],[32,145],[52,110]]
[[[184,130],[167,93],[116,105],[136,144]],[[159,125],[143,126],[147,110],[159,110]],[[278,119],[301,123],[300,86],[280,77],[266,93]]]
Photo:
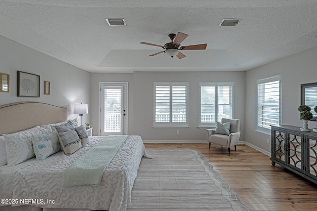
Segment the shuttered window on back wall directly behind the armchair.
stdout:
[[233,118],[234,83],[199,83],[198,127],[215,126],[221,118]]

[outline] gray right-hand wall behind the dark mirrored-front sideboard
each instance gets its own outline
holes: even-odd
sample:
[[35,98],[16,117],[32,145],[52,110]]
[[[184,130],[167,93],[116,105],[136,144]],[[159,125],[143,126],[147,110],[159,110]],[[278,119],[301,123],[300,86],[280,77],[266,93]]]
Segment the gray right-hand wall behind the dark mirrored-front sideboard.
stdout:
[[[282,125],[301,127],[298,106],[301,103],[300,85],[317,82],[317,47],[302,51],[246,72],[246,122],[245,141],[270,152],[270,135],[257,133],[257,79],[281,74],[282,77]],[[309,128],[316,122],[309,121]]]

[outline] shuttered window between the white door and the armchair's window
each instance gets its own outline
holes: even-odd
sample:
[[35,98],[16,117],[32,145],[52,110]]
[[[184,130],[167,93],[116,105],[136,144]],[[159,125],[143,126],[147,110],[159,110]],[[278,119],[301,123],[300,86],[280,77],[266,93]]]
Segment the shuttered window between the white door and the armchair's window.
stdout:
[[188,127],[188,83],[154,83],[154,127]]

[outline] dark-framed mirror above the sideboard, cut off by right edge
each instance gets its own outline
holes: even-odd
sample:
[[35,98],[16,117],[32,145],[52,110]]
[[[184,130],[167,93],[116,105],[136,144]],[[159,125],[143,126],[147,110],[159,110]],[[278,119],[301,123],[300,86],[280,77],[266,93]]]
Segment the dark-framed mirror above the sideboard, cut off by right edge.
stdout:
[[301,105],[308,105],[311,107],[313,114],[313,121],[317,119],[317,113],[314,111],[317,106],[317,83],[301,84]]

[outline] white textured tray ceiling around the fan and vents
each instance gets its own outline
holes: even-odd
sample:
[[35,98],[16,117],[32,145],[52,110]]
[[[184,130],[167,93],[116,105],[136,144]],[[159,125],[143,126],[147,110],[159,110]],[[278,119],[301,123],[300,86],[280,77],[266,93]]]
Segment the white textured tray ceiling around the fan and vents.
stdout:
[[[177,32],[207,49],[148,57],[163,49],[140,44]],[[0,0],[0,35],[89,72],[245,71],[317,46],[317,0]]]

